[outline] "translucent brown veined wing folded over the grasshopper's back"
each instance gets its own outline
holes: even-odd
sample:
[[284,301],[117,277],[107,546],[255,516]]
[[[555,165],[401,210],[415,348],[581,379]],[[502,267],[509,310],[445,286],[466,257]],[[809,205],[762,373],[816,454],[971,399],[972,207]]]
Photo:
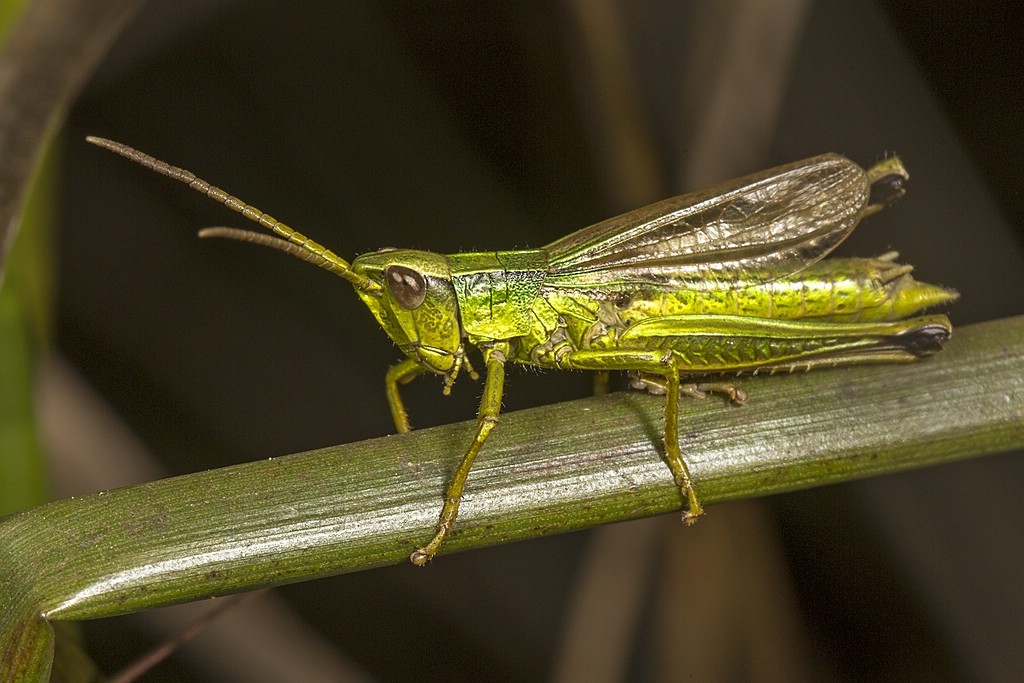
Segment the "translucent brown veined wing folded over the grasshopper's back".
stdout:
[[869,191],[860,166],[828,154],[675,197],[548,245],[545,288],[738,288],[784,278],[846,239]]

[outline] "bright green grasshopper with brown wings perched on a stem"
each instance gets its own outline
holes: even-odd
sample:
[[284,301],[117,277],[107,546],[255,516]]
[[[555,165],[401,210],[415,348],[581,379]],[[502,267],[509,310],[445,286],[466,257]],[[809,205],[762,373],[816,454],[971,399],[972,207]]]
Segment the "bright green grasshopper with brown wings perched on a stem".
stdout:
[[911,317],[956,293],[919,283],[895,252],[822,261],[864,216],[900,197],[908,177],[892,157],[866,171],[839,155],[804,161],[665,200],[597,223],[543,249],[469,254],[382,249],[348,263],[301,232],[193,173],[119,142],[89,137],[240,212],[278,237],[211,227],[200,237],[252,242],[291,254],[355,288],[408,356],[385,391],[395,428],[410,430],[398,387],[426,372],[444,393],[475,346],[486,367],[476,434],[452,477],[437,530],[410,556],[424,565],[452,530],[463,486],[498,424],[505,365],[628,371],[665,394],[665,459],[703,514],[679,449],[679,395],[731,384],[681,376],[907,362],[949,338],[945,315]]

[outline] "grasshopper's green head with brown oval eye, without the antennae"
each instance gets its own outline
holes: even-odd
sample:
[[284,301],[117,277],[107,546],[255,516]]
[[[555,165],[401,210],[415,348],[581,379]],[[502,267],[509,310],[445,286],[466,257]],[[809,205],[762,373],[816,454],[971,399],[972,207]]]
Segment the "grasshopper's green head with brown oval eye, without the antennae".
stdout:
[[398,348],[454,379],[463,362],[462,330],[447,259],[423,251],[380,251],[356,258],[352,272],[381,286],[355,291]]

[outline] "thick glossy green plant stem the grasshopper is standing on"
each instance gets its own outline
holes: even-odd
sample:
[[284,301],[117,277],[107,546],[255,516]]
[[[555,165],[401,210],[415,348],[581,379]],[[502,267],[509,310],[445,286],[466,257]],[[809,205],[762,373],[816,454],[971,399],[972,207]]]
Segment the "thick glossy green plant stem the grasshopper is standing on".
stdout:
[[[1008,451],[1024,445],[1024,316],[957,329],[944,352],[919,364],[741,383],[748,405],[680,410],[706,504]],[[622,392],[503,416],[439,561],[679,510],[660,458],[662,400]],[[433,532],[473,430],[424,429],[0,519],[4,646],[18,615],[110,616],[404,562]],[[714,519],[712,508],[699,523]]]

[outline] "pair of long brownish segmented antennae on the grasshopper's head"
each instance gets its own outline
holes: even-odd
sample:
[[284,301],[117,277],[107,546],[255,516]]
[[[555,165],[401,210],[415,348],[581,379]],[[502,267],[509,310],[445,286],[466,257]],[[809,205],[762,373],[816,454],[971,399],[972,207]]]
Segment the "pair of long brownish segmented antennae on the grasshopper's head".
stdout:
[[365,292],[374,293],[381,291],[380,285],[372,280],[352,272],[348,261],[341,258],[327,247],[313,242],[298,230],[292,229],[285,223],[269,214],[263,213],[256,207],[250,206],[239,198],[228,195],[220,187],[211,185],[206,180],[196,177],[195,173],[186,171],[183,168],[178,168],[177,166],[171,166],[170,164],[162,162],[159,159],[155,159],[145,153],[130,147],[127,144],[115,142],[114,140],[108,140],[102,137],[94,137],[92,135],[86,137],[85,139],[93,144],[97,144],[105,150],[119,154],[126,159],[130,159],[137,164],[141,164],[147,169],[156,171],[161,175],[166,175],[169,178],[174,178],[175,180],[185,183],[196,191],[203,193],[210,199],[220,202],[228,209],[238,211],[249,220],[259,223],[266,229],[279,236],[281,239],[279,240],[278,238],[271,238],[259,232],[251,232],[249,230],[241,230],[230,227],[207,228],[200,232],[201,238],[227,238],[229,240],[252,242],[264,247],[270,247],[272,249],[276,249],[278,251],[283,251],[286,254],[291,254],[292,256],[300,258],[307,263],[312,263],[313,265],[324,268],[325,270],[329,270],[336,275],[344,278]]

